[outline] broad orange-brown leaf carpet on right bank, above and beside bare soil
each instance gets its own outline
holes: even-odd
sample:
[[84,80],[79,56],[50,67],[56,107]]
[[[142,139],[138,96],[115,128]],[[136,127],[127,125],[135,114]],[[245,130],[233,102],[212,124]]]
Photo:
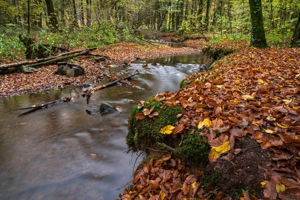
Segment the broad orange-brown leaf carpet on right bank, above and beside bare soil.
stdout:
[[246,48],[213,66],[186,76],[184,88],[155,96],[164,106],[181,107],[180,131],[171,134],[202,129],[197,134],[211,146],[210,162],[230,161],[241,150],[234,148],[236,139],[255,139],[271,152],[261,166],[264,197],[299,199],[300,48]]

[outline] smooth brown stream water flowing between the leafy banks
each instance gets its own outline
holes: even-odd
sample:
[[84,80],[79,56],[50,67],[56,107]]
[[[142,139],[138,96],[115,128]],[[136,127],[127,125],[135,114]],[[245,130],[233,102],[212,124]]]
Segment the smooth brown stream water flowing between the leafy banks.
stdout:
[[[199,54],[146,60],[156,66],[111,67],[118,76],[141,74],[131,82],[143,89],[111,86],[49,108],[15,108],[52,101],[81,91],[73,87],[0,98],[0,199],[115,199],[131,180],[137,155],[127,150],[125,136],[131,107],[157,92],[175,91],[182,78],[206,64]],[[118,112],[89,115],[101,100]],[[140,161],[140,157],[137,161]],[[135,168],[136,168],[135,164]]]

